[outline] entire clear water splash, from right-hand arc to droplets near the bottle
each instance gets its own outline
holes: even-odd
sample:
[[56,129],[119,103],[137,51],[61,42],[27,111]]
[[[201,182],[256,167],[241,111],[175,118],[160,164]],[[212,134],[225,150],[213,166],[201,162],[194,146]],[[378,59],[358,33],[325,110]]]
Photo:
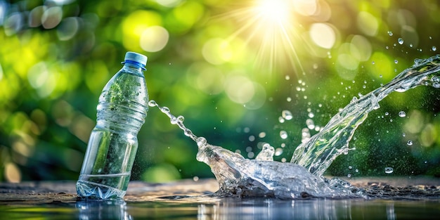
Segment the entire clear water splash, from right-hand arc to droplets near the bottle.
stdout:
[[[308,142],[299,145],[290,163],[273,161],[273,147],[264,145],[255,160],[249,160],[219,146],[210,145],[203,137],[193,134],[183,124],[183,117],[175,117],[167,107],[148,103],[159,108],[177,124],[184,134],[198,144],[197,160],[211,168],[219,183],[220,196],[270,196],[276,198],[356,197],[363,196],[346,181],[328,180],[323,173],[336,157],[349,150],[354,131],[380,108],[379,101],[393,91],[407,91],[416,86],[440,88],[440,55],[415,64],[397,75],[391,82],[374,91],[354,97],[342,111],[333,116],[327,125]],[[355,193],[356,192],[356,193]]]

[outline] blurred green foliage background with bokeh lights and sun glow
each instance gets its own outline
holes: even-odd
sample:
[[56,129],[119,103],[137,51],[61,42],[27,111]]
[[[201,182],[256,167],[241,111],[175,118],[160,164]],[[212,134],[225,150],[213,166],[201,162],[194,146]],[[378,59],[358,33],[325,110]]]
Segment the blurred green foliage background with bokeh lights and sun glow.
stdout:
[[[0,1],[0,181],[77,179],[98,96],[126,51],[148,56],[150,98],[185,116],[196,135],[250,158],[268,142],[289,161],[308,125],[323,127],[353,96],[436,54],[439,6]],[[438,94],[417,88],[385,98],[356,131],[356,150],[328,174],[440,176]],[[283,110],[291,120],[279,119]],[[195,143],[157,109],[138,139],[132,179],[212,176],[195,160]]]

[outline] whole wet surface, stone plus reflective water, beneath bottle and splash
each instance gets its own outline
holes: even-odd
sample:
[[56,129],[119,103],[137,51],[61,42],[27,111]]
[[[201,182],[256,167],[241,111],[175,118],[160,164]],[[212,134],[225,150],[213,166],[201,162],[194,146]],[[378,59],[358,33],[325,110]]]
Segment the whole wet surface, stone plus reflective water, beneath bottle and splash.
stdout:
[[[439,179],[359,179],[365,198],[221,198],[215,179],[132,181],[124,201],[77,200],[75,182],[0,183],[0,219],[438,219]],[[362,185],[363,184],[363,185]],[[411,185],[411,186],[410,186]]]

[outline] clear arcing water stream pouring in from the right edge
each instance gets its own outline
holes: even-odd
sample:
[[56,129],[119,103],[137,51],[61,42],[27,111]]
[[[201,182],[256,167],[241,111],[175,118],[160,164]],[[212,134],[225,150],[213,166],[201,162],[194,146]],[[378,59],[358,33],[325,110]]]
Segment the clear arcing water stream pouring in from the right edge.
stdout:
[[318,134],[296,148],[291,162],[322,176],[337,156],[348,152],[354,131],[367,118],[368,112],[380,108],[379,101],[393,91],[403,92],[420,85],[439,88],[439,70],[440,55],[415,60],[413,67],[401,72],[388,84],[354,98]]

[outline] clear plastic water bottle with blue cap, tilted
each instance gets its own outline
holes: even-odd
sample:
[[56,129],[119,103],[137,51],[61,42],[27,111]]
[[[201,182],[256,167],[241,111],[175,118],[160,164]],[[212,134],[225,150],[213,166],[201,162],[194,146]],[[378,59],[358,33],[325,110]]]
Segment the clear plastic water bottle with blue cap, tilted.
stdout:
[[127,52],[124,60],[99,97],[96,127],[77,181],[82,198],[117,200],[127,191],[138,131],[148,111],[148,91],[143,76],[147,57]]

